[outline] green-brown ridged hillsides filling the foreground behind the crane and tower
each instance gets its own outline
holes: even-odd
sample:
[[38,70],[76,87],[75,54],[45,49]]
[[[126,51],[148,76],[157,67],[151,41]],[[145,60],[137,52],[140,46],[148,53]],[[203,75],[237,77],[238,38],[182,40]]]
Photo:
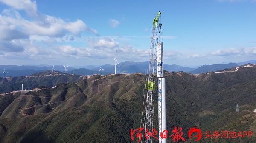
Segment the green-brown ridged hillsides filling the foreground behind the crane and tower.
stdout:
[[[198,143],[255,143],[255,72],[256,67],[198,76],[165,72],[168,136],[175,126],[182,127],[185,142],[192,143],[189,129],[198,127],[203,134]],[[131,141],[130,130],[140,128],[146,75],[95,75],[61,83],[64,77],[49,79],[59,81],[54,88],[0,95],[1,143],[137,143]],[[16,81],[24,80],[19,78]],[[157,95],[155,111],[158,130]],[[253,135],[205,139],[206,131]]]

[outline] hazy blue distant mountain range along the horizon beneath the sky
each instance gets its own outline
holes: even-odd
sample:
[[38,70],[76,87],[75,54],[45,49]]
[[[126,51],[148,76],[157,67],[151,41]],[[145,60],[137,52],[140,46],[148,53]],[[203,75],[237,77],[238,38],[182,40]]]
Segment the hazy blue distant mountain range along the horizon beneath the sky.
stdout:
[[[232,68],[243,64],[256,64],[256,60],[250,60],[240,63],[227,63],[227,64],[212,64],[212,65],[203,65],[201,67],[190,68],[190,67],[182,67],[176,64],[164,64],[164,69],[169,72],[188,72],[193,74],[199,73],[207,73],[210,71],[217,71],[222,70],[225,68]],[[105,64],[101,66],[102,75],[108,75],[114,73],[114,65]],[[65,68],[62,65],[55,65],[54,71],[60,71],[65,73]],[[147,73],[148,69],[148,62],[133,62],[133,61],[125,61],[121,62],[119,65],[116,65],[116,73]],[[52,70],[52,66],[50,65],[38,65],[38,66],[17,66],[17,65],[0,65],[0,70],[6,70],[6,77],[13,77],[13,76],[29,76],[37,72],[42,72],[46,70]],[[87,65],[82,68],[74,68],[74,67],[67,67],[67,73],[70,74],[77,74],[77,75],[93,75],[99,74],[100,67],[95,65]],[[4,77],[4,73],[0,74],[0,77]]]

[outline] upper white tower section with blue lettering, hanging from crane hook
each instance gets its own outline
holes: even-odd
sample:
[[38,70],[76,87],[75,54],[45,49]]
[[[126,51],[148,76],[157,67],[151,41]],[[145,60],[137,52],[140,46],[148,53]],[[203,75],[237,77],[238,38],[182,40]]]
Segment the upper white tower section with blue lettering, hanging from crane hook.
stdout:
[[163,77],[163,42],[157,43],[157,77]]

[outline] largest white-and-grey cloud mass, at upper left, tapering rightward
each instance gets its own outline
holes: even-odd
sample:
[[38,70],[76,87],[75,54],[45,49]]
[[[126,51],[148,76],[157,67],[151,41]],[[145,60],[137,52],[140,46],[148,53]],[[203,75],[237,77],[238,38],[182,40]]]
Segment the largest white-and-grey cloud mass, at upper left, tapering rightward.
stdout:
[[[5,55],[8,55],[8,52],[19,52],[20,54],[17,55],[20,55],[20,58],[49,55],[49,51],[53,52],[49,49],[53,47],[52,44],[58,42],[57,39],[61,39],[61,42],[71,41],[83,31],[90,31],[98,36],[95,29],[88,28],[81,20],[66,22],[61,18],[40,14],[35,1],[0,0],[0,2],[11,7],[3,9],[0,14],[0,50],[3,50]],[[23,18],[19,13],[20,10],[26,11],[29,18]],[[70,39],[64,39],[65,36],[69,36]],[[48,47],[43,46],[45,44]],[[77,52],[72,51],[73,48],[70,51],[63,47],[60,49],[64,53]]]

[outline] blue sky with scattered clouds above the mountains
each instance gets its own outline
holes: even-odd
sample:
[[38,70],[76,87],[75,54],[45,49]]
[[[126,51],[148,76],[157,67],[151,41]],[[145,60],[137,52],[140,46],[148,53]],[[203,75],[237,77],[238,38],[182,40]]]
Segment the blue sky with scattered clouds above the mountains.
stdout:
[[165,64],[256,59],[256,0],[0,0],[0,64],[147,61],[158,11]]

